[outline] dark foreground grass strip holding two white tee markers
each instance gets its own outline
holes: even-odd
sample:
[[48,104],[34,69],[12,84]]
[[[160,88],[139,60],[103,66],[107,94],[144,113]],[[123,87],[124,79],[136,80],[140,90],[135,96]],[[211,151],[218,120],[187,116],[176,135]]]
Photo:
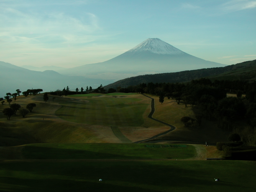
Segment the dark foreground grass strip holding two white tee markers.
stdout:
[[248,161],[0,163],[0,191],[254,192],[255,179]]

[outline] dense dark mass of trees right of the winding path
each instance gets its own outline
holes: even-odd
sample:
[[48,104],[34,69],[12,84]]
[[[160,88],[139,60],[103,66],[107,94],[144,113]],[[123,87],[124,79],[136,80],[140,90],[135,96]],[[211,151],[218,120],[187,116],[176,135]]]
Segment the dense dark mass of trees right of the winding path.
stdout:
[[[148,93],[168,99],[175,99],[185,107],[194,105],[201,110],[199,116],[216,119],[217,126],[232,130],[236,120],[245,120],[256,127],[256,82],[242,80],[215,80],[206,78],[192,80],[189,83],[142,83],[126,88],[117,87],[117,92]],[[235,93],[237,97],[227,97]],[[245,97],[242,97],[245,94]],[[162,103],[161,102],[161,103]],[[198,118],[200,120],[200,118]]]

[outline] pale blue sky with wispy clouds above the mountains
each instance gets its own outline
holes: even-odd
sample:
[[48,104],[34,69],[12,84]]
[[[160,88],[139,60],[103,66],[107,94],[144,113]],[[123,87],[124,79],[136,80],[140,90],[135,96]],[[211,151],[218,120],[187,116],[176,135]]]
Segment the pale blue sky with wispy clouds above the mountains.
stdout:
[[0,61],[76,67],[147,38],[204,60],[256,59],[256,1],[0,0]]

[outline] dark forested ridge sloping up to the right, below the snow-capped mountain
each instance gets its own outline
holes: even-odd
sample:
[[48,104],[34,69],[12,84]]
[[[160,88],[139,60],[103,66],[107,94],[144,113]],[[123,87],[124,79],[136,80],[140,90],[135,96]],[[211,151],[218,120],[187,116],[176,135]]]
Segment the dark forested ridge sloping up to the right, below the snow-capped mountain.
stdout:
[[188,82],[192,79],[209,78],[212,81],[218,80],[250,80],[256,81],[256,60],[245,61],[236,65],[228,65],[218,68],[204,68],[190,71],[180,71],[175,73],[161,73],[154,75],[141,75],[130,77],[108,84],[104,88],[114,88],[121,86],[123,88],[130,85],[138,85],[141,83],[176,83]]

